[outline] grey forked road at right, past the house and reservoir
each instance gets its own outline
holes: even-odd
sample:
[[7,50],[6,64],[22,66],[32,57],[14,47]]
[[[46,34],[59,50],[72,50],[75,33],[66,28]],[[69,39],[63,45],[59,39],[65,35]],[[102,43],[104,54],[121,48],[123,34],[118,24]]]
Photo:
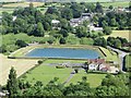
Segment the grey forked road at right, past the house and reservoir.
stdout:
[[[108,48],[108,49],[111,49],[112,51],[116,51],[116,52],[119,53],[120,71],[122,71],[122,69],[123,69],[123,58],[124,58],[127,54],[129,54],[129,53],[127,53],[127,52],[124,52],[124,51],[121,51],[121,50],[119,50],[119,49],[112,48],[112,47],[110,47],[110,46],[107,46],[107,48]],[[123,72],[123,71],[122,71],[122,72]]]

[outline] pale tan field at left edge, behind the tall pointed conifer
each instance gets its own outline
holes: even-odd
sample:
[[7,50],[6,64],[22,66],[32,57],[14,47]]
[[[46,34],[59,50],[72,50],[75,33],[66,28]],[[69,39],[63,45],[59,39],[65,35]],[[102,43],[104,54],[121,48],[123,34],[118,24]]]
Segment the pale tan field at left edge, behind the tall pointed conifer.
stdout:
[[11,66],[14,66],[17,76],[20,76],[31,68],[35,66],[37,60],[8,59],[5,56],[0,53],[0,85],[4,85],[7,83]]

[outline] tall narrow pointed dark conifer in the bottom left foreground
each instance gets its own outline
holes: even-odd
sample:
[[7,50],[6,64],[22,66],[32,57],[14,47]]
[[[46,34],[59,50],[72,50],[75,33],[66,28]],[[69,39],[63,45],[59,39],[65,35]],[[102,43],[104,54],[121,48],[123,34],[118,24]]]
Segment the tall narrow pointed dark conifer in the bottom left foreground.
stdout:
[[16,79],[16,71],[14,70],[14,68],[11,68],[11,70],[10,70],[7,89],[9,91],[9,96],[17,95],[19,84],[17,84],[17,79]]

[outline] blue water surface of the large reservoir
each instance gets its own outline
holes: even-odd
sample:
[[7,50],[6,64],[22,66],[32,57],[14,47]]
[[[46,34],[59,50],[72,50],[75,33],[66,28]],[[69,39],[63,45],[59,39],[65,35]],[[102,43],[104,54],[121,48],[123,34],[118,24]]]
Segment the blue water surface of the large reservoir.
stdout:
[[34,49],[25,57],[29,58],[64,58],[64,59],[97,59],[98,51],[72,48],[40,48]]

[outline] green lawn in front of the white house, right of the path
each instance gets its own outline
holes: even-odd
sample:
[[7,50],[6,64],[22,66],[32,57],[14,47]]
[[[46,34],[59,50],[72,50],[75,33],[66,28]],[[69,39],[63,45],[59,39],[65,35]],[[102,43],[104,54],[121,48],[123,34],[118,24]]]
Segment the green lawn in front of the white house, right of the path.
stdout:
[[72,77],[72,79],[67,85],[69,85],[70,83],[76,84],[78,82],[81,82],[83,76],[87,77],[87,83],[90,83],[91,87],[97,87],[98,85],[100,85],[102,79],[106,76],[106,74],[87,74],[84,70],[81,70]]

